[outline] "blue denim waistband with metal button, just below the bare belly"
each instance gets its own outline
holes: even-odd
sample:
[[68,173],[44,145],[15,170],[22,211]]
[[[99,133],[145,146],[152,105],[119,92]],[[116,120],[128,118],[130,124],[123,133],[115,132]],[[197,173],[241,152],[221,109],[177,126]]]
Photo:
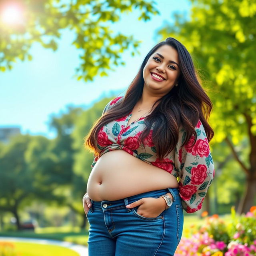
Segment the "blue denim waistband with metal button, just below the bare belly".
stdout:
[[[102,209],[102,210],[109,210],[113,208],[120,208],[124,207],[127,204],[130,204],[132,202],[135,202],[137,200],[140,200],[143,197],[155,197],[158,198],[166,193],[171,193],[173,196],[173,201],[175,202],[176,196],[179,196],[179,190],[178,188],[166,188],[166,189],[160,189],[160,190],[153,190],[153,191],[148,191],[144,192],[141,194],[137,194],[135,196],[129,196],[127,198],[119,199],[119,200],[114,200],[114,201],[93,201],[92,202],[92,209]],[[111,207],[110,207],[111,206]],[[91,210],[92,210],[91,209]],[[128,209],[128,211],[131,209]]]

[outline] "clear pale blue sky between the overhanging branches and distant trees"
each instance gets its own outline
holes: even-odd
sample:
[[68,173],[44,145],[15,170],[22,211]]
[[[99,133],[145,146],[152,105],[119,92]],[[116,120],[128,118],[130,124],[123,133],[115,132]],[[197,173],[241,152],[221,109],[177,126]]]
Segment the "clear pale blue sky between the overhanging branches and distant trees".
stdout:
[[[48,130],[50,114],[65,112],[67,105],[90,106],[110,91],[125,91],[138,72],[148,51],[159,42],[156,29],[165,22],[173,22],[173,13],[189,14],[188,0],[159,0],[160,15],[150,21],[139,21],[138,10],[122,14],[116,24],[110,23],[114,34],[122,32],[142,43],[140,55],[131,56],[127,50],[122,54],[125,66],[113,67],[106,77],[96,77],[93,82],[73,78],[79,66],[79,51],[71,45],[74,33],[65,30],[58,41],[56,52],[35,44],[30,53],[32,61],[17,61],[11,71],[0,72],[0,127],[19,126],[22,134],[40,134],[53,138]],[[129,25],[127,25],[129,24]]]

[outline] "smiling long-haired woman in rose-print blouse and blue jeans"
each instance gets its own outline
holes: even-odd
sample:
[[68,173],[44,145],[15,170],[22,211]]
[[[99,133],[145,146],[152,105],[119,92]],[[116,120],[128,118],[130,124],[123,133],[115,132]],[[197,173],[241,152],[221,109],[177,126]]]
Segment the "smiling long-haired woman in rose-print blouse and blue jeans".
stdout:
[[214,177],[211,109],[186,48],[154,46],[86,138],[89,256],[174,255],[183,210],[200,210]]

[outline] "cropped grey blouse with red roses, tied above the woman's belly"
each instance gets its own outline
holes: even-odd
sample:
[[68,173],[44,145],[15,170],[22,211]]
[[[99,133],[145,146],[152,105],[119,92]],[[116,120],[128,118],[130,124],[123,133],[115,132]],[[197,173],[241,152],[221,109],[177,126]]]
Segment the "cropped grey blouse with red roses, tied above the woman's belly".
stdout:
[[[107,112],[123,97],[117,97],[108,102],[103,113]],[[182,207],[188,213],[193,213],[202,208],[202,202],[206,192],[214,178],[214,164],[210,153],[208,139],[200,120],[195,127],[196,143],[194,135],[181,147],[186,131],[179,129],[178,143],[175,148],[163,160],[159,160],[156,154],[156,147],[152,141],[152,131],[144,144],[139,144],[138,136],[145,128],[144,117],[131,123],[128,120],[132,112],[127,116],[113,120],[103,126],[98,132],[97,148],[99,156],[94,157],[92,168],[98,158],[111,150],[124,150],[140,160],[166,170],[178,180],[178,190],[182,199]]]

